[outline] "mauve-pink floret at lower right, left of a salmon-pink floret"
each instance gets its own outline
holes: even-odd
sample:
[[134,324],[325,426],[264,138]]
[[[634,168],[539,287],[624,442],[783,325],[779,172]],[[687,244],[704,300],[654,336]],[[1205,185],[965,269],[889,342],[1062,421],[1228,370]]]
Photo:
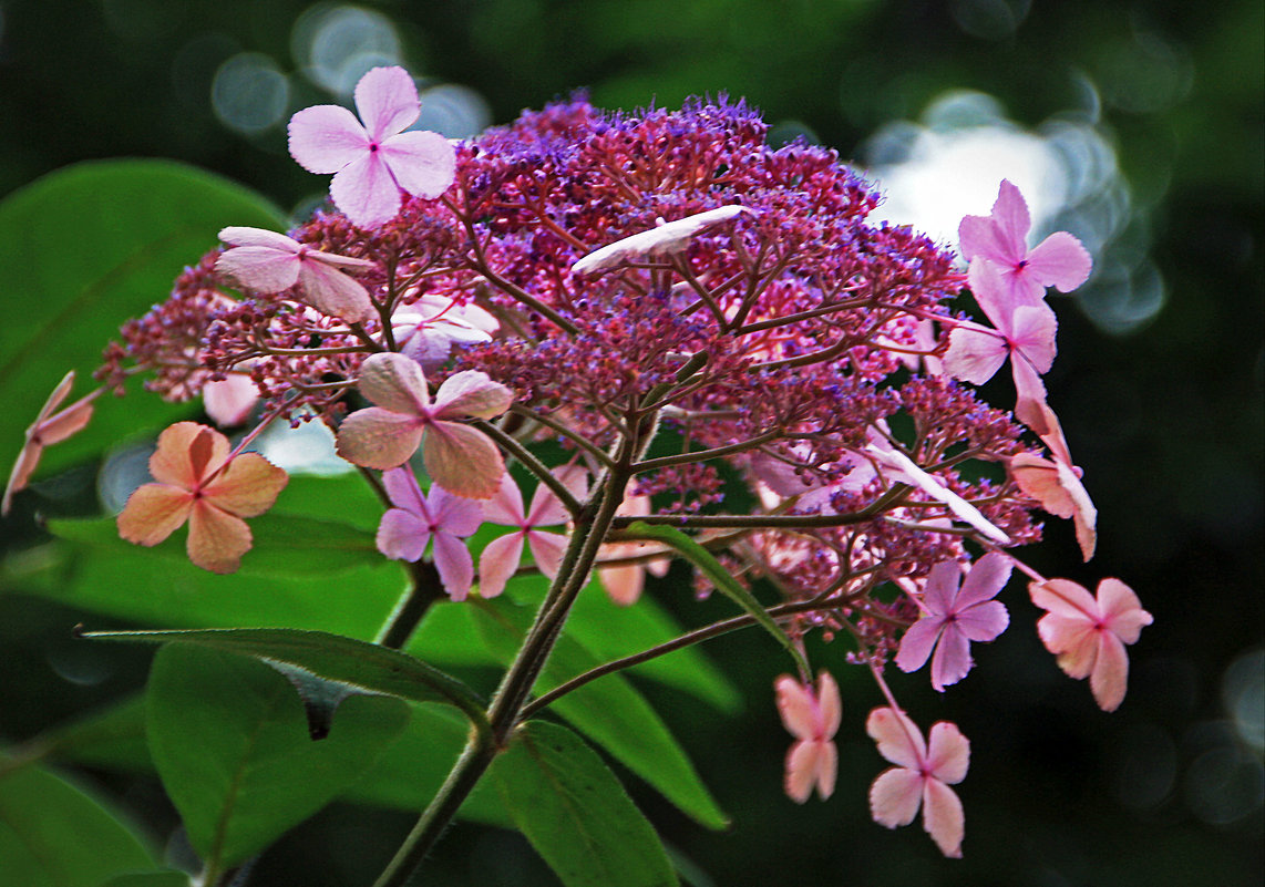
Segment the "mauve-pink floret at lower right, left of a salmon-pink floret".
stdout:
[[[970,671],[970,642],[993,640],[1009,624],[1006,607],[992,600],[1011,578],[1011,559],[990,552],[977,561],[966,580],[954,561],[931,568],[922,592],[923,615],[904,633],[896,664],[904,672],[922,668],[931,650],[931,686],[944,692]],[[960,588],[959,588],[960,583]]]

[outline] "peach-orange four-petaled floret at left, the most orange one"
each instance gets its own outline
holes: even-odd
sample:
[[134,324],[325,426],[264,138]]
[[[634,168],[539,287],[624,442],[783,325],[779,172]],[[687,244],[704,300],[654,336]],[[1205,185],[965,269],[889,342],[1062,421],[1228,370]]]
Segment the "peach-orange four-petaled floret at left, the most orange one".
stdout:
[[258,453],[229,459],[229,440],[216,430],[181,421],[158,435],[145,483],[119,514],[119,535],[157,545],[188,521],[188,559],[213,573],[231,573],[250,550],[254,518],[272,507],[290,480]]

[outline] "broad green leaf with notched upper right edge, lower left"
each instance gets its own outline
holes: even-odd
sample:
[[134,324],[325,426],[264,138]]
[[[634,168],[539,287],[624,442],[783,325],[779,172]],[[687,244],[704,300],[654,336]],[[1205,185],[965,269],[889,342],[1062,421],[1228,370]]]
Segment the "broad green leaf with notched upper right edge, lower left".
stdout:
[[283,677],[194,644],[158,650],[147,700],[154,764],[211,872],[258,853],[340,795],[406,724],[397,700],[357,696],[329,738],[314,743]]

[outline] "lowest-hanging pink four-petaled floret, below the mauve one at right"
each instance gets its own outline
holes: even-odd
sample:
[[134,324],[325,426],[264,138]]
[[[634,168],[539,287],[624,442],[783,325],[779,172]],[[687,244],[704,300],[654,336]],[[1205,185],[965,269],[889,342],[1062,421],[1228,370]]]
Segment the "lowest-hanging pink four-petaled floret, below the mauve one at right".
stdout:
[[970,743],[956,724],[939,721],[931,728],[930,747],[922,731],[894,709],[874,709],[865,731],[878,743],[878,753],[891,760],[870,786],[870,816],[894,829],[908,825],[922,807],[922,828],[954,859],[961,858],[965,816],[961,801],[949,786],[966,777]]

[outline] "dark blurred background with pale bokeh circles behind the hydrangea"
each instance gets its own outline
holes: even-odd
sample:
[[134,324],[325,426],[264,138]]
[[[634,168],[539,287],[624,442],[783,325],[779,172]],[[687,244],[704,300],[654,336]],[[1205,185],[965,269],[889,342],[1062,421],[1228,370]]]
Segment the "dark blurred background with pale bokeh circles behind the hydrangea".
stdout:
[[[946,243],[1011,178],[1032,204],[1035,237],[1070,230],[1095,258],[1082,291],[1051,296],[1060,354],[1046,382],[1099,509],[1098,555],[1080,564],[1055,521],[1032,564],[1090,587],[1121,577],[1154,614],[1131,648],[1125,705],[1104,715],[1058,672],[1016,582],[1012,629],[977,652],[968,681],[944,696],[925,674],[893,681],[921,724],[951,719],[972,739],[965,860],[941,859],[917,826],[889,833],[869,820],[865,792],[884,764],[863,725],[879,697],[842,649],[816,652],[845,695],[829,802],[798,807],[781,793],[789,738],[772,681],[784,664],[756,635],[710,649],[746,697],[736,717],[646,688],[732,830],[703,831],[635,781],[634,796],[700,886],[1260,884],[1262,10],[1259,0],[6,0],[0,194],[76,161],[171,157],[302,215],[324,178],[288,158],[286,121],[310,104],[349,102],[359,76],[385,63],[421,78],[419,127],[454,138],[581,87],[629,110],[745,96],[772,140],[836,148],[887,195],[878,218]],[[0,291],[20,310],[10,300]],[[16,533],[6,528],[6,545]],[[689,624],[722,612],[696,604],[683,578],[653,593]],[[77,662],[67,636],[77,620],[0,588],[0,741],[143,682],[144,653]],[[81,778],[167,840],[156,785]],[[410,822],[335,805],[271,850],[250,883],[367,883]],[[434,864],[434,883],[554,883],[521,838],[473,825],[455,826]]]

